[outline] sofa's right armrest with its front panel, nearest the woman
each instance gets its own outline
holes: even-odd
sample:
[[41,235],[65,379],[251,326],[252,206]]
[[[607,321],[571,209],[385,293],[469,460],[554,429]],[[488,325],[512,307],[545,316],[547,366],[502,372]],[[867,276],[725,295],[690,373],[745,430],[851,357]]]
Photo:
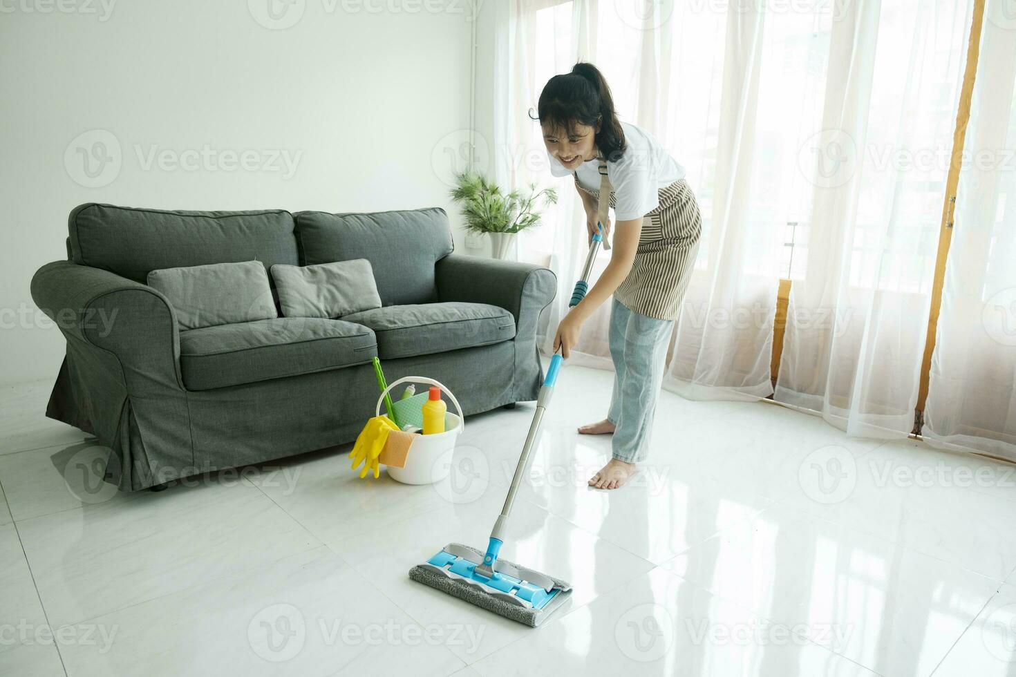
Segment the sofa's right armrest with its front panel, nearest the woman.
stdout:
[[440,301],[490,303],[515,316],[512,401],[536,399],[544,381],[536,327],[539,314],[557,294],[554,272],[530,264],[450,254],[438,261],[435,277]]

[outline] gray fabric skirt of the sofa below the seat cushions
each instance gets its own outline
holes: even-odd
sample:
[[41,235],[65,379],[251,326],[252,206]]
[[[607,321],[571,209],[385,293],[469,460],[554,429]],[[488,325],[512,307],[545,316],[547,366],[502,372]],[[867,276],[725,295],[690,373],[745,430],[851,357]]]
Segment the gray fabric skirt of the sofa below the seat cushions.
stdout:
[[[517,365],[510,340],[382,365],[389,383],[440,381],[469,415],[536,399],[543,369],[531,359]],[[351,443],[380,395],[370,363],[205,391],[167,388],[162,397],[134,396],[125,383],[111,353],[69,340],[46,411],[113,450],[106,480],[124,491]]]

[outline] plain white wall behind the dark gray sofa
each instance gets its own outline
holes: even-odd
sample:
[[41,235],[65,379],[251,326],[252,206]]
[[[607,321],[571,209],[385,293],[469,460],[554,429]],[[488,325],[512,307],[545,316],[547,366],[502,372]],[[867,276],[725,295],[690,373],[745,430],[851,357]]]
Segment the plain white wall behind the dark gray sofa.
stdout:
[[[291,13],[273,22],[269,3]],[[67,213],[82,202],[436,205],[457,222],[444,179],[464,168],[468,138],[467,3],[0,0],[0,384],[57,373],[63,338],[38,319],[28,283],[66,258]],[[230,153],[246,150],[250,166],[230,171]],[[82,151],[114,161],[89,178]],[[149,163],[152,152],[169,163]],[[290,164],[272,165],[275,153]],[[472,253],[457,227],[455,241]]]

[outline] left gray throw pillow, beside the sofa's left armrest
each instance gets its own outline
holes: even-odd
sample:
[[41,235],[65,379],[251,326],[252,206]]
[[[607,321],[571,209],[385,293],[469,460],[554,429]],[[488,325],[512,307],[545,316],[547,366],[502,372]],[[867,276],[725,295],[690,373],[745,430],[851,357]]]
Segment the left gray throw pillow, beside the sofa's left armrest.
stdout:
[[148,273],[177,312],[180,329],[277,318],[268,274],[257,261],[162,268]]

